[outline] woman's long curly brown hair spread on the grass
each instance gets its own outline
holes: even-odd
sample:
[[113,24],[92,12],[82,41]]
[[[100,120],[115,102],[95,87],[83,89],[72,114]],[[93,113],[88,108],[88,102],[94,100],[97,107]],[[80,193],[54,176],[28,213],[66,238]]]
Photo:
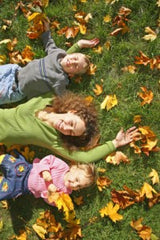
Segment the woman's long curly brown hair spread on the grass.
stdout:
[[69,150],[77,150],[85,147],[92,147],[90,143],[92,139],[98,135],[98,113],[93,103],[89,103],[83,95],[66,92],[62,96],[56,96],[53,99],[52,105],[44,109],[47,112],[67,113],[75,111],[85,122],[86,130],[81,136],[68,136],[60,133],[60,137],[64,146]]

